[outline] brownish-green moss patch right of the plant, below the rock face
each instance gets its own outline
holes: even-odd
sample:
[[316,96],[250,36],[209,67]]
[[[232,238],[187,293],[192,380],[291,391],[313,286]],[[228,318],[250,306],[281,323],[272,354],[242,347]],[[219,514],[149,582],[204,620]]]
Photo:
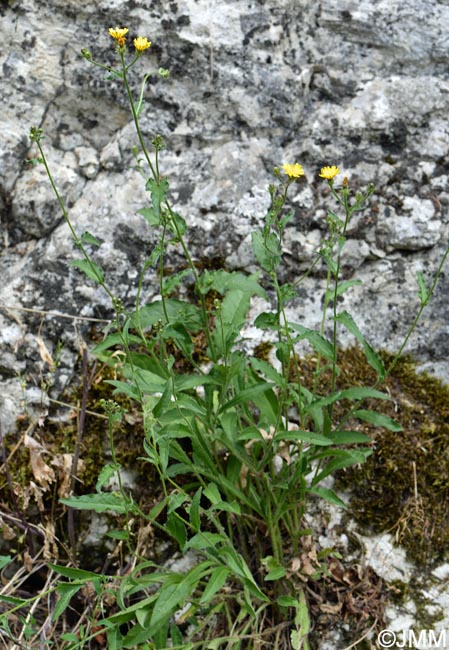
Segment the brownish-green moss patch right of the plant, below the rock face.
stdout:
[[[393,359],[386,352],[381,356],[386,366]],[[339,366],[340,389],[375,381],[358,348],[340,351]],[[306,381],[313,369],[311,359],[302,363]],[[320,376],[323,389],[327,379]],[[350,489],[352,511],[362,527],[390,531],[418,562],[441,559],[449,548],[449,388],[418,373],[414,361],[404,357],[380,389],[391,401],[370,406],[404,430],[363,426],[372,436],[373,454],[363,465],[340,472],[338,482]],[[360,423],[352,425],[361,429]]]

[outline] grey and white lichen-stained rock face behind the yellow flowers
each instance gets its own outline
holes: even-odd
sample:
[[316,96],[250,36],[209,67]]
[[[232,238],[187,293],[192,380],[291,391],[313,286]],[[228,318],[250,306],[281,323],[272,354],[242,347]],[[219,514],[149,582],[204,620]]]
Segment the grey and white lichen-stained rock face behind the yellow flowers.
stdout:
[[[135,93],[144,74],[171,71],[169,80],[150,78],[142,130],[166,139],[161,167],[194,254],[251,270],[249,233],[268,206],[272,169],[300,162],[307,180],[291,193],[296,213],[285,237],[285,274],[297,279],[325,234],[326,209],[335,208],[317,171],[336,164],[354,189],[376,186],[346,244],[345,275],[364,285],[346,294],[344,307],[374,346],[398,348],[419,306],[416,273],[431,282],[448,240],[446,1],[8,0],[0,15],[5,431],[21,400],[18,373],[29,402],[39,404],[35,386],[48,364],[38,338],[52,355],[58,340],[63,345],[55,393],[70,377],[74,341],[87,325],[52,314],[110,314],[107,298],[68,267],[76,251],[58,203],[42,166],[26,162],[36,155],[30,126],[44,129],[75,227],[102,241],[96,259],[125,304],[154,243],[136,214],[148,196],[134,169],[137,138],[124,90],[80,56],[85,47],[113,64],[108,28],[115,25],[153,43],[130,71]],[[408,347],[444,378],[447,277]],[[144,296],[157,291],[149,280]],[[322,291],[320,273],[302,283],[290,307],[298,321],[319,322]]]

